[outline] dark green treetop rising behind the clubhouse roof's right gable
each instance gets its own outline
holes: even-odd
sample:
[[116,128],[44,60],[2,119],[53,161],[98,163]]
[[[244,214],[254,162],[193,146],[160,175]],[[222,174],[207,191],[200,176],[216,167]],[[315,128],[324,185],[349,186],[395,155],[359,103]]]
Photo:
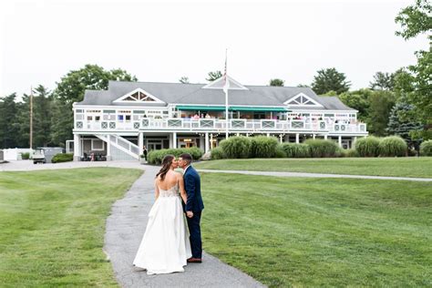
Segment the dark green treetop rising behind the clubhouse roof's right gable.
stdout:
[[351,86],[346,81],[344,73],[339,73],[335,68],[321,69],[317,71],[318,75],[314,77],[312,89],[316,94],[322,95],[329,91],[335,91],[337,94],[348,91]]

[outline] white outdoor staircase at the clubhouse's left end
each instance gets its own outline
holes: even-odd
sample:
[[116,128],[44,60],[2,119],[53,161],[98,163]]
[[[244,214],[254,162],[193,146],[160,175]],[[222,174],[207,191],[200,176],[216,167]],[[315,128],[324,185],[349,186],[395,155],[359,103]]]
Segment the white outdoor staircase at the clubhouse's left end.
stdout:
[[139,159],[139,147],[127,139],[113,134],[96,134],[95,136],[111,145],[112,159]]

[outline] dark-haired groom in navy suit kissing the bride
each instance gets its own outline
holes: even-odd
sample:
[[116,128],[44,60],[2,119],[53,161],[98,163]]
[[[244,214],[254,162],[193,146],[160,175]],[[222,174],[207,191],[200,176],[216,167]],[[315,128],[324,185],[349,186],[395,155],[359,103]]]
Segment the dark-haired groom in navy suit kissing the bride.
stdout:
[[202,243],[201,243],[201,211],[204,204],[201,198],[201,180],[197,170],[190,163],[192,157],[189,153],[183,153],[179,157],[179,166],[183,169],[184,190],[188,195],[188,201],[185,205],[186,216],[188,217],[188,226],[190,232],[190,248],[192,257],[188,262],[202,262]]

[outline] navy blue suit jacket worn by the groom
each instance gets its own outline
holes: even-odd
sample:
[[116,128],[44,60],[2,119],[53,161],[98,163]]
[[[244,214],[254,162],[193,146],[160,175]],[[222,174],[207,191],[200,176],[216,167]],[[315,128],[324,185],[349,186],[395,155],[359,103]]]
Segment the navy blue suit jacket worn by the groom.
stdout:
[[184,190],[188,195],[185,211],[198,212],[204,209],[201,197],[201,179],[197,170],[190,166],[183,175]]

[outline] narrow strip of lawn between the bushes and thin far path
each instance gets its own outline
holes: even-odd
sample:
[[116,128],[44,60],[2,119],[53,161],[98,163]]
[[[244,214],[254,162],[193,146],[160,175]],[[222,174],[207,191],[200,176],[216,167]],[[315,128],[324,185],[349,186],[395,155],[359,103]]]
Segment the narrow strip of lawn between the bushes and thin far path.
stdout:
[[432,178],[432,157],[222,159],[196,163],[197,169],[256,170]]

